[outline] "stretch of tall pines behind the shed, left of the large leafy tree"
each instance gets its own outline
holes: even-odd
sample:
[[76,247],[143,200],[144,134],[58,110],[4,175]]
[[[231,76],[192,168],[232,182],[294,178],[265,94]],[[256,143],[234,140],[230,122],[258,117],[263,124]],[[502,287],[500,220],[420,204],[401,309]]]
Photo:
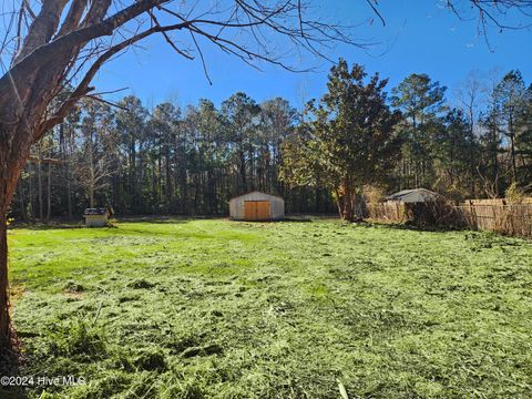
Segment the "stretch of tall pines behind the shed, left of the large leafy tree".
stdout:
[[12,215],[78,218],[94,206],[122,215],[221,215],[231,197],[254,190],[283,195],[291,212],[334,211],[324,190],[279,181],[282,145],[299,117],[286,100],[259,104],[235,93],[219,108],[201,100],[149,111],[130,95],[116,105],[84,99],[33,147]]

